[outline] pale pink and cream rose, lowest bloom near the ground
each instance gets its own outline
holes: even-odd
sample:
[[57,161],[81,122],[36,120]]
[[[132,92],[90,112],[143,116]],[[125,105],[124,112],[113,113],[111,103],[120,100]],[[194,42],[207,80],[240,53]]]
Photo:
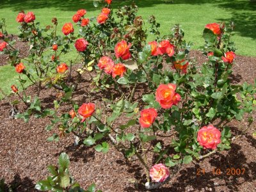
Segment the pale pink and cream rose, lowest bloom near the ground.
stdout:
[[149,175],[151,179],[155,182],[164,182],[164,180],[169,177],[170,171],[162,163],[159,163],[152,166],[149,171]]

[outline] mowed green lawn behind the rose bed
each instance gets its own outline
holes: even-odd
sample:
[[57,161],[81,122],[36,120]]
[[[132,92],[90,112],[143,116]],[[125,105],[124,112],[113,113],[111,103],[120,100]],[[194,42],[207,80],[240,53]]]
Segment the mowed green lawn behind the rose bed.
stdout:
[[[166,1],[168,0],[134,1],[139,7],[138,15],[145,20],[145,28],[148,27],[148,16],[150,15],[155,15],[157,22],[161,24],[162,35],[168,34],[174,24],[180,24],[185,31],[185,40],[193,42],[195,44],[193,49],[196,49],[204,45],[202,31],[205,24],[234,21],[236,28],[232,40],[236,43],[236,53],[244,56],[256,56],[256,2],[249,0],[174,0],[173,3],[166,3]],[[112,6],[116,9],[131,3],[131,0],[113,0]],[[6,19],[9,33],[17,34],[19,24],[15,21],[15,17],[20,10],[34,12],[36,21],[40,22],[42,27],[51,24],[52,17],[57,17],[58,33],[61,34],[63,24],[72,22],[72,15],[81,8],[87,10],[86,17],[97,17],[101,5],[95,8],[92,0],[1,0],[0,19]],[[78,28],[75,27],[75,34],[77,34],[77,30]],[[148,36],[148,40],[153,38],[152,35]],[[68,61],[74,58],[74,54],[76,54],[75,50],[62,59]],[[27,65],[29,66],[29,63]],[[17,83],[18,76],[10,65],[0,67],[0,87],[4,92],[10,93],[10,86]]]

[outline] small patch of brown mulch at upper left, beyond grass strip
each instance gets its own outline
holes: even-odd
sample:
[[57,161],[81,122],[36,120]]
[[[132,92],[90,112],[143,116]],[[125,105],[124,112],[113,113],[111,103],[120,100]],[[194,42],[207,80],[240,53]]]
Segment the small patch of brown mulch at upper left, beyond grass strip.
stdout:
[[[22,40],[20,40],[18,36],[8,35],[8,38],[10,38],[10,40],[16,41],[14,47],[15,49],[19,50],[21,54],[23,54],[21,58],[23,58],[24,56],[28,56],[28,52],[29,52],[28,42],[22,42]],[[0,43],[1,42],[3,42],[2,39],[0,39]],[[8,64],[9,61],[10,60],[7,54],[0,54],[0,66]]]

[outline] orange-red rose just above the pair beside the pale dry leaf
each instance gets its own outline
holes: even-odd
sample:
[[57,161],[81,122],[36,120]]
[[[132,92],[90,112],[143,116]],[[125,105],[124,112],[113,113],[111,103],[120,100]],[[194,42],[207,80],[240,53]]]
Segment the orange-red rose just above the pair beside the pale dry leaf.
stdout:
[[122,58],[123,60],[128,60],[131,57],[130,47],[131,43],[127,45],[125,40],[122,40],[115,46],[116,58]]

